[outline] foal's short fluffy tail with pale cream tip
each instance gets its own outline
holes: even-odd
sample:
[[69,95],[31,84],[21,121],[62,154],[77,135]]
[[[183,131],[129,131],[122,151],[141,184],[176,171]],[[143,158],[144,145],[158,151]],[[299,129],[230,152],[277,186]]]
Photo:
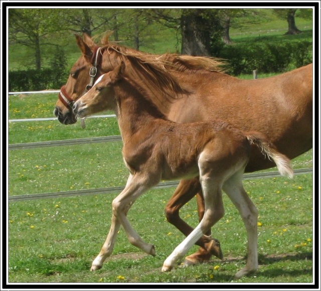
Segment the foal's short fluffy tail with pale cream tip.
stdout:
[[269,160],[273,160],[282,176],[293,178],[293,169],[290,165],[290,159],[277,151],[274,144],[272,144],[267,137],[260,132],[247,132],[246,138],[250,144],[258,146],[263,155],[267,156]]

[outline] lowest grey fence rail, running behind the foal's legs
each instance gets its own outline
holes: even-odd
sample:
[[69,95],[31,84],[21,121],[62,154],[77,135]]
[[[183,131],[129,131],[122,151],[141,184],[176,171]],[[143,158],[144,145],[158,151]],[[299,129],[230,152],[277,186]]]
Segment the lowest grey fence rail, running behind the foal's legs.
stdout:
[[[312,173],[312,168],[304,168],[304,169],[295,169],[294,174],[306,174]],[[278,171],[272,172],[261,172],[261,173],[248,173],[244,174],[243,180],[252,180],[252,179],[261,179],[261,178],[273,178],[280,176]],[[176,187],[179,184],[179,181],[170,181],[170,182],[161,182],[157,186],[153,187],[153,189],[162,189],[162,188],[170,188]],[[107,188],[95,188],[95,189],[85,189],[85,190],[73,190],[73,191],[61,191],[61,192],[50,192],[50,193],[40,193],[40,194],[26,194],[26,195],[15,195],[9,196],[9,202],[16,201],[28,201],[33,199],[41,199],[41,198],[61,198],[67,196],[84,196],[84,195],[97,195],[97,194],[109,194],[114,192],[121,192],[124,189],[124,186],[117,187],[107,187]]]

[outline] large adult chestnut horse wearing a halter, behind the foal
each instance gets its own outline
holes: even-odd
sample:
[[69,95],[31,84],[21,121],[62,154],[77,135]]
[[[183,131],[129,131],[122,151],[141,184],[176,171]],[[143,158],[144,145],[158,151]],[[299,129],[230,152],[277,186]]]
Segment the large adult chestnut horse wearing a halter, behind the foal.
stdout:
[[[146,65],[158,62],[171,72],[183,90],[193,92],[175,101],[164,98],[156,104],[166,112],[168,119],[187,123],[220,118],[243,130],[264,133],[290,159],[312,147],[312,64],[275,77],[241,80],[222,73],[218,66],[220,63],[213,59],[145,55],[109,42],[108,36],[102,38],[99,46],[85,34],[83,40],[76,36],[82,55],[71,68],[54,110],[61,123],[77,121],[72,112],[73,101],[86,92],[86,87],[91,88],[98,76],[112,71],[121,60],[140,56]],[[162,62],[164,60],[167,62]],[[274,166],[253,148],[245,171]],[[197,201],[201,218],[204,205],[198,178],[182,180],[166,206],[168,221],[185,235],[193,228],[180,218],[179,209],[196,194],[199,194]],[[222,257],[217,240],[208,237],[206,244],[204,242],[196,253],[186,257],[186,263],[208,260],[212,254]]]

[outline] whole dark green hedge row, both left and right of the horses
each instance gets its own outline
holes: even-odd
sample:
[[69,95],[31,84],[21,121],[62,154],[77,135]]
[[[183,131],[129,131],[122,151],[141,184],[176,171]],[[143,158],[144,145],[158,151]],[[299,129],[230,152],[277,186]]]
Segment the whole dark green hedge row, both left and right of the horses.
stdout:
[[[259,73],[281,73],[312,63],[312,44],[308,41],[291,43],[260,43],[225,46],[218,56],[229,63],[228,73],[234,76]],[[68,73],[57,69],[9,72],[9,91],[39,91],[59,89]]]

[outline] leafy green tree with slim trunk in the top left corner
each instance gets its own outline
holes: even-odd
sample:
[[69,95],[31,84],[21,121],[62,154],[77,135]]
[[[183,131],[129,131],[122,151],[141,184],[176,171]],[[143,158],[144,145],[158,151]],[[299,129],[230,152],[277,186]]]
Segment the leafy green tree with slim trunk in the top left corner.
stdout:
[[9,44],[21,44],[35,52],[36,69],[41,69],[41,45],[55,43],[46,36],[64,29],[59,10],[9,9]]

